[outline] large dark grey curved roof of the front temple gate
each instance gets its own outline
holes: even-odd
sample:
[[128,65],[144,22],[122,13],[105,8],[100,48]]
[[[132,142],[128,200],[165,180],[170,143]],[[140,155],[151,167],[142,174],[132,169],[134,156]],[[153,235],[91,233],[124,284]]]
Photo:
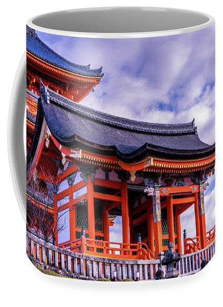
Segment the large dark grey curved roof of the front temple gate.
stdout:
[[44,115],[51,133],[65,147],[117,156],[127,163],[148,156],[199,159],[215,150],[215,144],[200,141],[194,120],[182,124],[134,121],[78,104],[46,86],[40,91],[37,120],[42,122]]

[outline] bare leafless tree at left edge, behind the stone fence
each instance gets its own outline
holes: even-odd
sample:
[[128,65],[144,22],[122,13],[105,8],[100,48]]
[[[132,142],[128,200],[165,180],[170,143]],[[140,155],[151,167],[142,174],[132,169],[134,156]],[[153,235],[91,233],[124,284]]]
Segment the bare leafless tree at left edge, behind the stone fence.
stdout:
[[[68,226],[66,213],[74,210],[75,206],[67,209],[61,209],[55,206],[53,187],[57,178],[41,169],[41,174],[46,178],[51,189],[46,188],[46,184],[38,178],[31,167],[27,169],[27,223],[33,228],[37,237],[43,238],[46,242],[51,242],[56,234],[60,233]],[[61,193],[60,199],[64,199],[64,193]],[[68,196],[68,202],[70,199]]]

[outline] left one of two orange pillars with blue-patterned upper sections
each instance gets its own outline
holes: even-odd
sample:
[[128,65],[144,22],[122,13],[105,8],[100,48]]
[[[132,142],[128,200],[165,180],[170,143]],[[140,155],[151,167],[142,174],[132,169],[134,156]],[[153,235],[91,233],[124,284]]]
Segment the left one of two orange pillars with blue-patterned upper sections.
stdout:
[[154,229],[154,238],[155,238],[155,257],[158,258],[158,254],[163,251],[159,186],[154,186],[154,195],[152,196],[152,207],[153,207],[153,229]]

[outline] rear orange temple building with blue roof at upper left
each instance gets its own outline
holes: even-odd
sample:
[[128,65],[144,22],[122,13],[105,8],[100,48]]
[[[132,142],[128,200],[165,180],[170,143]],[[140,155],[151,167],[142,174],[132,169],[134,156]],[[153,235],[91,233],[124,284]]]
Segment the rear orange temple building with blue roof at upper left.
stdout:
[[40,96],[39,80],[75,102],[80,102],[102,78],[102,68],[75,64],[53,51],[27,27],[27,152],[35,128],[37,100]]

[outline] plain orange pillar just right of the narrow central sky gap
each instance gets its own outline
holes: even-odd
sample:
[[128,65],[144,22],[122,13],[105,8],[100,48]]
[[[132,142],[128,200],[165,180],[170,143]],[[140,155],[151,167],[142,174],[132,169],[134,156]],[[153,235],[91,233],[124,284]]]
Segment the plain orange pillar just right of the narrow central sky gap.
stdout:
[[123,182],[121,187],[122,197],[122,242],[129,244],[129,229],[128,229],[128,196],[127,183]]

